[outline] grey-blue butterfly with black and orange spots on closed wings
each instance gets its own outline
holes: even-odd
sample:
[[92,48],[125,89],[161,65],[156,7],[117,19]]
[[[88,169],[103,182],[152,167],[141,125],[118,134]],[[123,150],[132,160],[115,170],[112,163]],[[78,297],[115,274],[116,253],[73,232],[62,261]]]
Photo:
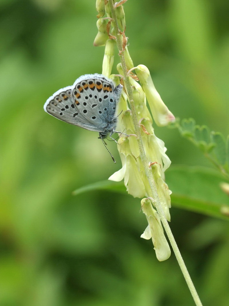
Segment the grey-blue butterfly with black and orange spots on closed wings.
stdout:
[[99,132],[100,138],[105,138],[115,130],[115,110],[122,87],[121,84],[115,87],[102,74],[86,74],[72,86],[56,91],[45,102],[44,110],[62,121]]

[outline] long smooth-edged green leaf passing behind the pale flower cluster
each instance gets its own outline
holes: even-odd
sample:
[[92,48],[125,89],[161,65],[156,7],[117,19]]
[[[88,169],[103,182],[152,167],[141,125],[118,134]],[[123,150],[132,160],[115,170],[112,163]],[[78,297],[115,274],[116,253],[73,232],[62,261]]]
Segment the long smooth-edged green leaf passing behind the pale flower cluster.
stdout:
[[[229,221],[229,199],[220,189],[225,181],[217,171],[204,167],[176,166],[166,171],[166,183],[172,190],[172,207],[201,213]],[[73,194],[93,190],[107,190],[125,193],[126,188],[121,182],[100,181],[76,189]],[[225,214],[223,213],[225,211]]]

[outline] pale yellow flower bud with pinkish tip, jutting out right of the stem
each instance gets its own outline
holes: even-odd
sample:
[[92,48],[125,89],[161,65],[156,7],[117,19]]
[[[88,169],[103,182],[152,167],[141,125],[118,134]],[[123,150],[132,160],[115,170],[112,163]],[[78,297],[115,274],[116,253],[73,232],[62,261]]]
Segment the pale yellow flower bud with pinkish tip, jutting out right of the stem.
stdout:
[[175,117],[164,104],[154,87],[148,68],[144,65],[138,65],[135,71],[146,94],[156,124],[158,126],[165,126],[168,125],[169,122],[173,122]]

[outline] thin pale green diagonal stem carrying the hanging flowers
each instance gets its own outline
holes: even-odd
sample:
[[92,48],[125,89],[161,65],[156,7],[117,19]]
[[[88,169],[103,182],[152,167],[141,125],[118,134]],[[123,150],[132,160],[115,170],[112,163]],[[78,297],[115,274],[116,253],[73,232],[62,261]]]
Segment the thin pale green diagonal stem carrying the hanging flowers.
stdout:
[[167,221],[167,219],[165,217],[165,214],[163,212],[163,209],[162,209],[159,197],[158,197],[157,189],[156,189],[156,186],[155,186],[155,183],[154,183],[154,179],[153,179],[153,176],[152,176],[152,172],[151,172],[151,170],[149,169],[149,166],[148,166],[147,158],[146,158],[146,155],[145,155],[145,151],[144,151],[144,147],[143,147],[143,143],[142,143],[142,139],[141,139],[140,127],[139,127],[138,120],[137,120],[137,114],[136,114],[135,104],[134,104],[134,100],[133,100],[133,93],[132,93],[131,85],[130,85],[130,82],[129,82],[129,76],[127,75],[125,59],[124,59],[124,54],[123,54],[123,50],[122,50],[122,40],[121,40],[121,37],[119,35],[117,16],[116,16],[115,8],[114,8],[114,5],[113,5],[113,1],[108,0],[108,2],[109,2],[110,9],[111,9],[111,14],[112,14],[111,17],[114,20],[115,35],[116,35],[116,38],[117,38],[119,56],[120,56],[121,63],[122,63],[124,80],[125,80],[125,83],[126,83],[126,88],[127,88],[127,92],[128,92],[128,96],[129,96],[129,103],[130,103],[130,107],[131,107],[133,124],[134,124],[134,128],[135,128],[135,133],[138,137],[138,146],[139,146],[139,150],[140,150],[140,158],[141,158],[141,161],[144,165],[144,170],[145,170],[145,173],[146,173],[147,180],[149,181],[149,185],[150,185],[152,195],[153,195],[153,198],[154,198],[154,201],[155,201],[155,206],[157,208],[158,214],[161,218],[162,224],[163,224],[163,226],[165,228],[165,231],[167,233],[167,236],[169,238],[170,244],[173,248],[176,259],[179,263],[180,269],[181,269],[181,271],[184,275],[184,278],[187,282],[188,288],[189,288],[189,290],[191,292],[191,295],[192,295],[192,297],[195,301],[195,304],[197,306],[202,306],[200,298],[198,297],[196,289],[193,285],[191,277],[190,277],[190,275],[187,271],[187,268],[185,266],[184,260],[183,260],[181,254],[180,254],[179,248],[176,244],[176,241],[175,241],[175,239],[173,237],[173,234],[171,232],[171,229],[169,227],[168,221]]

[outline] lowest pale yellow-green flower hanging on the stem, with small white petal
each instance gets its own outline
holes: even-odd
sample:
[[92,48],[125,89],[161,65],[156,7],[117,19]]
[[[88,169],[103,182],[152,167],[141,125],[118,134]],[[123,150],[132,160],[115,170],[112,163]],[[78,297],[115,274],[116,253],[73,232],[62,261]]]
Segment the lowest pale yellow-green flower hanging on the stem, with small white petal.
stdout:
[[157,211],[152,207],[151,200],[149,198],[141,200],[141,207],[148,221],[148,226],[141,235],[141,238],[152,238],[157,259],[159,261],[166,260],[170,257],[171,251],[165,238],[161,219]]

